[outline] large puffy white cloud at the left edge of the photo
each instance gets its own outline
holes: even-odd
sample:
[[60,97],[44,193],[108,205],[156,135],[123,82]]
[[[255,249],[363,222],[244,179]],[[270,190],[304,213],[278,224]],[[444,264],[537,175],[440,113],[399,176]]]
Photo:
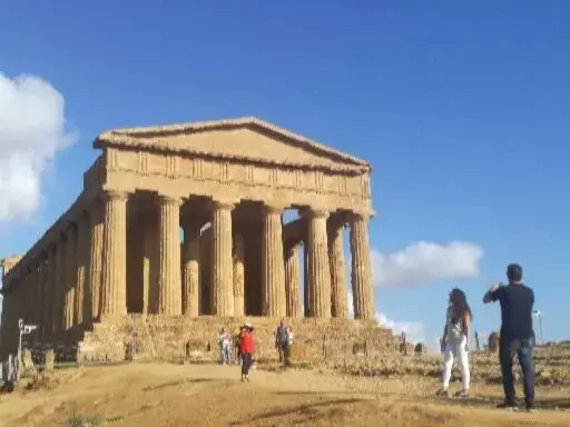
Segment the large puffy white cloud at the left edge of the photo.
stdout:
[[0,222],[28,219],[40,207],[46,165],[77,138],[66,131],[63,107],[42,79],[0,72]]

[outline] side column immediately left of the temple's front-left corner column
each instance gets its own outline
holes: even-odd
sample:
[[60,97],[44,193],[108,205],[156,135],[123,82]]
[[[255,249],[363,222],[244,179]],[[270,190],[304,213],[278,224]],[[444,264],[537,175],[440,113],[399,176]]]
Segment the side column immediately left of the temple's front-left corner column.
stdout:
[[[101,314],[101,282],[102,282],[102,246],[105,239],[104,210],[97,199],[90,210],[89,238],[89,277],[87,282],[90,296],[89,314],[85,319],[98,319]],[[86,290],[87,291],[87,290]]]

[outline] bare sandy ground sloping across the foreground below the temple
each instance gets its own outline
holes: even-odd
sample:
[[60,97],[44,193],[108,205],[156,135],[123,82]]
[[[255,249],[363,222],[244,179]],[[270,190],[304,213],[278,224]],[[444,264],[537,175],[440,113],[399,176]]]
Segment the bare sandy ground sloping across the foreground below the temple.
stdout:
[[[570,391],[542,391],[537,414],[494,409],[499,387],[473,386],[469,401],[433,397],[428,379],[341,377],[237,367],[125,365],[61,370],[53,389],[0,401],[0,426],[65,426],[73,414],[102,425],[160,426],[570,426]],[[458,386],[459,387],[459,386]]]

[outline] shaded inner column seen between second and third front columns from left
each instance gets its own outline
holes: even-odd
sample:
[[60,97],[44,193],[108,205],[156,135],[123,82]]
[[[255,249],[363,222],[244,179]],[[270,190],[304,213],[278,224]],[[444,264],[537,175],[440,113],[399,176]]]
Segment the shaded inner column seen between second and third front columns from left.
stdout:
[[184,227],[184,314],[200,315],[200,225],[196,221]]

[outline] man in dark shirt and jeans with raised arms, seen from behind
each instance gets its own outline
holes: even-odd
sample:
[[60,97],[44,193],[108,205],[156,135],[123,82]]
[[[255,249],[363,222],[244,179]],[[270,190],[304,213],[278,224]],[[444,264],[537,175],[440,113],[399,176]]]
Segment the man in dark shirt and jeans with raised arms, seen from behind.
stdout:
[[507,267],[508,286],[493,285],[484,295],[483,302],[501,304],[501,332],[499,338],[499,359],[503,377],[504,403],[499,407],[518,409],[512,375],[514,354],[519,358],[524,379],[524,403],[528,410],[534,409],[534,330],[532,327],[532,307],[534,292],[522,282],[522,267],[511,264]]

